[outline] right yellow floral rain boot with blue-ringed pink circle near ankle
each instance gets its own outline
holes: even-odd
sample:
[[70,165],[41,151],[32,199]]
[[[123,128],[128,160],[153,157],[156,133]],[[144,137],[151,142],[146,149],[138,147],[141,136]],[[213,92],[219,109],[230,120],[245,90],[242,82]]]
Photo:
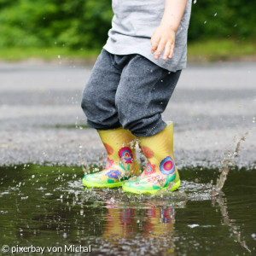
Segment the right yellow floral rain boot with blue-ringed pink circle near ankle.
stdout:
[[123,189],[135,194],[178,189],[180,179],[173,160],[173,124],[154,136],[139,137],[139,140],[148,165],[135,181],[125,182]]

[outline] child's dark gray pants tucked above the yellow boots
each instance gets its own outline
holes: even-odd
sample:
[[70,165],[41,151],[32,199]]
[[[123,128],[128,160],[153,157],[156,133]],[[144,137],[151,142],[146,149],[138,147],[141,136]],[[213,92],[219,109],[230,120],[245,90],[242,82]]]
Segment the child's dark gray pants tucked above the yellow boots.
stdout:
[[166,109],[181,70],[171,73],[142,55],[112,55],[102,49],[84,87],[81,107],[97,130],[123,126],[152,136],[166,127]]

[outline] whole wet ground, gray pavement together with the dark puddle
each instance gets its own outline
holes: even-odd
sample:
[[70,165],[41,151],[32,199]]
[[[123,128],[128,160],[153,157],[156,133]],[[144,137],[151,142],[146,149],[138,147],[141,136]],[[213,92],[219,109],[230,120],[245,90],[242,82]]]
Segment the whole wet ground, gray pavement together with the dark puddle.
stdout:
[[[183,71],[164,113],[183,183],[154,198],[81,185],[81,164],[104,160],[79,108],[90,68],[0,64],[0,254],[90,245],[95,255],[253,255],[256,65]],[[214,195],[219,168],[230,172]]]

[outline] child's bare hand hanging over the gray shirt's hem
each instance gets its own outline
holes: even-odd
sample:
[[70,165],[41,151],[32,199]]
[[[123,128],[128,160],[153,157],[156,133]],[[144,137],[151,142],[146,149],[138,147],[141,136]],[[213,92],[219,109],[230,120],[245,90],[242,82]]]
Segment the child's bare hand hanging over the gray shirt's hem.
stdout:
[[151,37],[151,53],[154,54],[154,59],[158,60],[163,49],[165,53],[163,60],[171,59],[175,44],[175,31],[171,26],[160,25],[154,31]]

